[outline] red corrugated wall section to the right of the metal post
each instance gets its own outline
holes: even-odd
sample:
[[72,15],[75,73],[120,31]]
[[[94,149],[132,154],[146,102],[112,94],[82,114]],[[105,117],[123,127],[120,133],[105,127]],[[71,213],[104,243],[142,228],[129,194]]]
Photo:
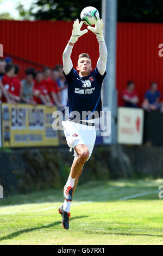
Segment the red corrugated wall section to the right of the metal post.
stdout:
[[161,43],[163,24],[118,23],[116,85],[120,104],[128,80],[135,81],[140,103],[151,81],[158,82],[163,95],[163,57],[158,55]]

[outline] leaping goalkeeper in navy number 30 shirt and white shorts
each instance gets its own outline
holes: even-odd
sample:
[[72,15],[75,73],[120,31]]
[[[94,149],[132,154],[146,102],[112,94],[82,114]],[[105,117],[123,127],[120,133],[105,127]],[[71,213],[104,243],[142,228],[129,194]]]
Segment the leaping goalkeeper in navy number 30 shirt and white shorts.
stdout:
[[[88,32],[81,31],[83,22],[77,19],[73,23],[70,41],[63,53],[64,75],[68,84],[68,102],[64,109],[68,120],[63,121],[64,133],[70,151],[74,149],[74,160],[70,175],[64,187],[64,204],[59,207],[62,216],[62,226],[69,228],[70,206],[72,196],[77,186],[79,176],[82,174],[84,163],[92,154],[96,140],[95,118],[102,111],[101,88],[106,75],[107,49],[103,36],[103,21],[98,20],[95,27],[88,26],[91,32],[96,34],[99,42],[99,58],[97,66],[92,70],[89,54],[82,53],[78,57],[77,70],[73,69],[71,53],[78,38]],[[74,118],[74,112],[78,118]],[[84,113],[90,114],[83,118]],[[98,115],[96,115],[96,114]]]

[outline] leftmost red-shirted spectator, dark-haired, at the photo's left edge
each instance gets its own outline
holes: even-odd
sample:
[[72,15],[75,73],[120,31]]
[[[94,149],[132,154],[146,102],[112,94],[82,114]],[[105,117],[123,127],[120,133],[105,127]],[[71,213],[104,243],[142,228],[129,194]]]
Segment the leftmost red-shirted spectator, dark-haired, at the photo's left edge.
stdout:
[[20,97],[16,96],[15,85],[11,81],[11,77],[14,75],[15,65],[9,63],[5,66],[5,74],[2,78],[2,83],[4,86],[2,102],[17,103],[20,101]]

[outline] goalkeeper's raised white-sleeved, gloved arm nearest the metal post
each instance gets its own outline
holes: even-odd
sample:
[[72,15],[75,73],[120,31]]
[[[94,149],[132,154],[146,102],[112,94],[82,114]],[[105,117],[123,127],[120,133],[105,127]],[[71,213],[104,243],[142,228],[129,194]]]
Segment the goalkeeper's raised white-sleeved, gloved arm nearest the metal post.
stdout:
[[104,72],[106,70],[106,62],[108,57],[108,51],[103,35],[103,26],[103,20],[98,20],[95,27],[87,27],[87,29],[96,34],[97,40],[99,42],[99,58],[97,60],[97,69],[101,75],[104,75]]

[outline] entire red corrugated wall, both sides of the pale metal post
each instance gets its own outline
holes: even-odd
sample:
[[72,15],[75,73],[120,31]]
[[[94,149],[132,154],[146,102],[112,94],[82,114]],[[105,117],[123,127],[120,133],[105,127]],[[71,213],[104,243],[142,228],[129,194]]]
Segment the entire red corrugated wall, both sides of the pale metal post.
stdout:
[[[32,66],[27,60],[34,62],[33,66],[37,69],[41,69],[43,65],[53,68],[55,64],[62,63],[62,52],[70,39],[72,24],[73,22],[65,21],[0,21],[0,43],[3,44],[4,53],[13,56],[14,62],[21,66],[22,78],[24,69]],[[135,81],[140,101],[151,81],[159,83],[163,95],[163,57],[158,55],[161,43],[163,44],[163,24],[117,23],[116,87],[120,104],[121,92],[128,80]],[[99,56],[98,43],[96,36],[90,31],[74,45],[74,67],[82,52],[90,54],[95,68]]]

